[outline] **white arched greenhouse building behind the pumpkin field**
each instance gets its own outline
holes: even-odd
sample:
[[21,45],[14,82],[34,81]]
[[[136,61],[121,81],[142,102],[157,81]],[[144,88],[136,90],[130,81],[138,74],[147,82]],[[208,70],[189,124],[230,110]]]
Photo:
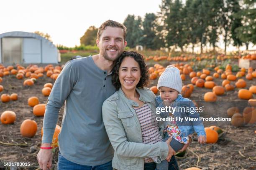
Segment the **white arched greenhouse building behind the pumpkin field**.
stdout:
[[49,40],[31,32],[0,34],[0,63],[58,63],[60,53]]

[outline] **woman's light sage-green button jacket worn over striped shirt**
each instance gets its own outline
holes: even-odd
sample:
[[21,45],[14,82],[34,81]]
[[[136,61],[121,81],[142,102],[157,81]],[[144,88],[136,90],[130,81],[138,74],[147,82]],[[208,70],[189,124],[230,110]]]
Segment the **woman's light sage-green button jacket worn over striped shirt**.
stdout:
[[[136,88],[136,91],[140,95],[139,100],[151,108],[152,114],[156,114],[154,93],[148,88]],[[138,103],[125,97],[121,88],[102,105],[103,122],[115,150],[112,166],[118,170],[144,170],[144,158],[165,160],[168,155],[165,142],[143,144],[141,125],[133,106],[138,107]],[[164,127],[162,123],[159,122],[159,127]]]

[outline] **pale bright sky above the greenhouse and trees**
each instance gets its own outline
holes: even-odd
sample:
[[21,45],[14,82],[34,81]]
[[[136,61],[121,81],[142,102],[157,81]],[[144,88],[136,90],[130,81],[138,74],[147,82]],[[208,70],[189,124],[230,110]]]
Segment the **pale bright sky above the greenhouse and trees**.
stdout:
[[[0,34],[40,31],[48,33],[55,45],[74,47],[90,26],[98,28],[109,19],[123,23],[128,14],[142,18],[156,14],[160,4],[161,0],[1,0]],[[224,49],[223,40],[216,45]],[[249,49],[256,50],[256,45]],[[233,50],[236,47],[229,45],[228,51]]]

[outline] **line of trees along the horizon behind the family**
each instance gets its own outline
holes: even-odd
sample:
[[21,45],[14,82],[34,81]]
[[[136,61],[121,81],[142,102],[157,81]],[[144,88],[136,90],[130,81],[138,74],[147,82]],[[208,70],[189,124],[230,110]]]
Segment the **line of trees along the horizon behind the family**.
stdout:
[[[237,46],[256,43],[255,0],[162,0],[157,14],[128,15],[123,24],[127,28],[129,47],[142,45],[156,50],[160,47],[179,47],[182,51],[200,45],[215,50],[220,36],[225,43]],[[80,38],[81,45],[95,45],[97,28],[91,26]]]

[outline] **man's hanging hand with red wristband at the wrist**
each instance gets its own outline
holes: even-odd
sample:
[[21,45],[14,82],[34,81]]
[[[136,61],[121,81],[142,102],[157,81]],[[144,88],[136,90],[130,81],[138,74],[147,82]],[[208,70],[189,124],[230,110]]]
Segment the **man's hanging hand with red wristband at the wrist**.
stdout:
[[[42,143],[43,147],[51,147],[51,143]],[[51,149],[40,149],[36,155],[38,164],[42,170],[51,169],[52,165],[52,151]]]

